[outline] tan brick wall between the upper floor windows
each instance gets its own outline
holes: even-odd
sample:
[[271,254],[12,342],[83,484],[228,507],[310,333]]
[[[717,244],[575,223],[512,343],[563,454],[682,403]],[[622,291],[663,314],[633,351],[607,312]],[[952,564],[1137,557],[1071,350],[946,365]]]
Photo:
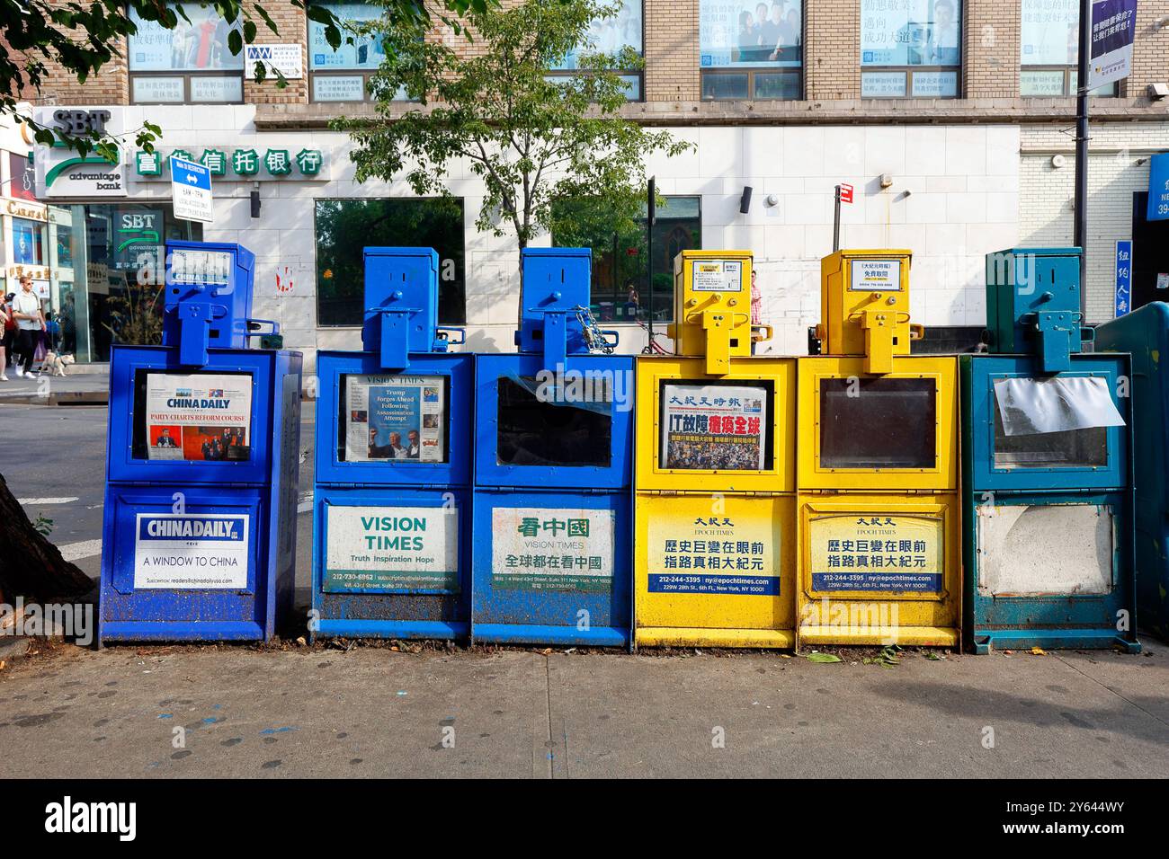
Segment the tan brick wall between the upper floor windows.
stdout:
[[[67,0],[54,0],[64,4]],[[900,99],[881,102],[872,110],[860,99],[860,0],[805,0],[804,2],[804,92],[807,102],[700,101],[698,22],[704,0],[643,0],[646,104],[630,105],[634,118],[655,122],[738,124],[740,122],[782,122],[789,124],[838,122],[998,122],[1030,123],[1046,118],[1061,120],[1071,99],[1021,99],[1019,0],[966,0],[964,99]],[[504,0],[512,6],[519,0]],[[309,105],[307,37],[304,13],[288,0],[268,2],[279,35],[262,23],[260,43],[299,42],[304,44],[305,78],[290,81],[284,90],[274,81],[256,84],[250,74],[244,79],[244,101],[270,104],[285,122],[295,124],[300,112],[312,113],[324,123],[333,109]],[[1154,23],[1169,16],[1169,0],[1142,0],[1137,13],[1137,39],[1132,78],[1122,85],[1120,99],[1100,99],[1095,115],[1107,118],[1154,118],[1169,116],[1169,99],[1143,99],[1151,82],[1169,78],[1169,28]],[[445,28],[436,27],[431,37],[455,40]],[[482,44],[466,44],[468,54]],[[124,61],[110,63],[84,85],[61,70],[50,71],[42,98],[57,103],[125,104],[129,76]],[[1135,99],[1135,101],[1129,101]],[[290,110],[291,109],[291,110]],[[368,109],[368,108],[366,108]],[[359,109],[360,110],[360,109]]]

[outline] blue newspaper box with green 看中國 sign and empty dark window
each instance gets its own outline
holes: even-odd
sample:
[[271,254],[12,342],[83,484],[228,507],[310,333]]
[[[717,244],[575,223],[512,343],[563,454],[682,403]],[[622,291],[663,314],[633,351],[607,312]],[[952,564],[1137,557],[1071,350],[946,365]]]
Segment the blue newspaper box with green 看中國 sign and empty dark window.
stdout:
[[588,313],[590,251],[523,251],[519,354],[476,356],[475,640],[625,645],[631,356]]

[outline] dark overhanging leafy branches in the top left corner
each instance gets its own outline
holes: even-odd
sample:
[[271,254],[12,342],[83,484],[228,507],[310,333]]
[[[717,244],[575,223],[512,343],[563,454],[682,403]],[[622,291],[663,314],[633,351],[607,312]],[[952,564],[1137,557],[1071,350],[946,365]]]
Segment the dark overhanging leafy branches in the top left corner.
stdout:
[[[283,0],[282,0],[283,1]],[[336,49],[340,46],[345,23],[332,12],[313,0],[288,0],[297,8],[305,9],[309,19],[325,26],[325,37]],[[378,0],[385,7],[382,22],[387,30],[409,30],[433,25],[428,0]],[[437,11],[436,18],[450,26],[459,27],[458,15],[472,9],[485,9],[498,0],[429,0]],[[223,20],[236,25],[228,37],[233,54],[243,50],[244,44],[256,40],[260,25],[278,34],[263,6],[242,0],[194,0],[186,4],[201,8],[214,8]],[[41,144],[60,140],[76,148],[82,155],[96,150],[110,160],[118,155],[118,140],[103,132],[69,134],[49,129],[21,117],[18,104],[32,97],[40,98],[42,86],[53,67],[60,65],[79,83],[97,75],[115,57],[123,54],[125,39],[138,32],[131,12],[143,21],[157,21],[166,29],[173,29],[180,19],[189,23],[182,4],[167,0],[4,0],[0,2],[0,27],[6,50],[0,51],[0,115],[8,115],[27,122]],[[351,36],[344,36],[352,39]],[[251,70],[257,81],[264,79],[264,67],[256,63]],[[278,75],[277,85],[286,82]],[[162,130],[153,123],[144,123],[129,134],[134,137],[140,148],[152,148]]]

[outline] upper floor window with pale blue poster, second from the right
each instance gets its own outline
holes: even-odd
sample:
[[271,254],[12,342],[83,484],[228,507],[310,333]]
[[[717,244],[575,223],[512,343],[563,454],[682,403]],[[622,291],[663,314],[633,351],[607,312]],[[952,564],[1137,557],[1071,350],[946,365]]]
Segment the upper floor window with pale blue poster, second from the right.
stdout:
[[956,98],[962,0],[860,0],[860,97]]

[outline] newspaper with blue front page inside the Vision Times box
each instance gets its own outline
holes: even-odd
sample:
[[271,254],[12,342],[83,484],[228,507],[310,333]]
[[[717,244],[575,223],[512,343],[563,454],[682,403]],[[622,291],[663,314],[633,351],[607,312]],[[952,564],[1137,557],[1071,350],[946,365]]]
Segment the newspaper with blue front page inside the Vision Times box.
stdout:
[[345,410],[347,462],[447,460],[442,376],[347,376]]

